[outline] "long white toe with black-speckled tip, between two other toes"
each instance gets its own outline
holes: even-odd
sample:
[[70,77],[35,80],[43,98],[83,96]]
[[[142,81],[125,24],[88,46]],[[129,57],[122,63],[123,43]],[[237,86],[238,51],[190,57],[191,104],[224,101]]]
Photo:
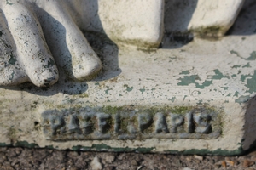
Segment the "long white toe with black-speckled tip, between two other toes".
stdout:
[[15,40],[18,60],[29,80],[38,87],[55,83],[58,70],[38,20],[20,3],[7,5],[3,11]]

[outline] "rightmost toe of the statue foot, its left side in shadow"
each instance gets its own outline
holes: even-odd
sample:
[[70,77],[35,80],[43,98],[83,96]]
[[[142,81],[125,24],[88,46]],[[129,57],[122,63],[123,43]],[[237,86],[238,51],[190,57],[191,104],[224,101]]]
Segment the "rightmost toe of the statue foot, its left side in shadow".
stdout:
[[45,5],[44,11],[37,11],[57,65],[65,69],[67,76],[73,79],[88,80],[96,76],[102,68],[101,60],[68,11],[54,1]]

